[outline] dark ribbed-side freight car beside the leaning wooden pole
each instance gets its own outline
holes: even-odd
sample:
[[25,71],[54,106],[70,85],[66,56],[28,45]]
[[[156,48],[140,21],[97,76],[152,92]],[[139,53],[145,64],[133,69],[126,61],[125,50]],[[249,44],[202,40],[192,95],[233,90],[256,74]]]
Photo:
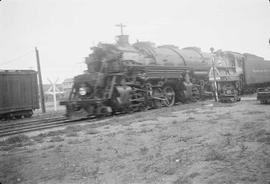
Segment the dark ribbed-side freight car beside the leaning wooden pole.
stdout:
[[0,119],[31,117],[39,108],[33,70],[0,70]]

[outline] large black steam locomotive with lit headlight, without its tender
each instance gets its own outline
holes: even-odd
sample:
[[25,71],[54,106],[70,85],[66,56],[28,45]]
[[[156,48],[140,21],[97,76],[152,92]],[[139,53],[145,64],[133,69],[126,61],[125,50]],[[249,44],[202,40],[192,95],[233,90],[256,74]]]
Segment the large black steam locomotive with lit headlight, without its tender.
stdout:
[[[116,44],[99,43],[85,58],[87,70],[74,78],[67,116],[103,116],[212,97],[240,100],[249,85],[247,56],[230,51],[202,52],[197,47],[130,44],[119,35]],[[216,93],[213,93],[216,91]]]

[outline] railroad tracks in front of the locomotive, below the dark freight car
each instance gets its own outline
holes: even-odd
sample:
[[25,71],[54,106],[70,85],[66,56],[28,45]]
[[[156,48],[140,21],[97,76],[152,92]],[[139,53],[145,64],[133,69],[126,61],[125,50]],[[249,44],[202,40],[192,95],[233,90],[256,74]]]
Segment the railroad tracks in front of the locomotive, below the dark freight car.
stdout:
[[[57,128],[68,124],[85,120],[87,118],[69,120],[65,117],[46,118],[40,120],[33,120],[29,122],[17,122],[0,126],[0,137],[6,137],[21,133],[39,131],[50,128]],[[90,119],[91,120],[91,119]]]

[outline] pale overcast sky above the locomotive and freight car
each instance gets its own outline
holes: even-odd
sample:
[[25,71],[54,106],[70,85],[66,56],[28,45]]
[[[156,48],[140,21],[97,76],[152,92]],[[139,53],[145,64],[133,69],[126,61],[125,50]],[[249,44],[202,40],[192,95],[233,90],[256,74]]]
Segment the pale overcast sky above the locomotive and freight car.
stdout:
[[268,0],[2,0],[0,69],[36,69],[44,82],[80,74],[98,42],[130,41],[249,52],[270,59]]

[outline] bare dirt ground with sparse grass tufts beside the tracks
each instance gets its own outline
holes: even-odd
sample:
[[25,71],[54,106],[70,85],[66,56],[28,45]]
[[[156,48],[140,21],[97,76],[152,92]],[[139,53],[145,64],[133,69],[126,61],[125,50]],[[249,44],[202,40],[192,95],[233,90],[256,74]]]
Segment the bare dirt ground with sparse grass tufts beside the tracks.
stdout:
[[181,104],[0,143],[0,183],[270,183],[270,105]]

